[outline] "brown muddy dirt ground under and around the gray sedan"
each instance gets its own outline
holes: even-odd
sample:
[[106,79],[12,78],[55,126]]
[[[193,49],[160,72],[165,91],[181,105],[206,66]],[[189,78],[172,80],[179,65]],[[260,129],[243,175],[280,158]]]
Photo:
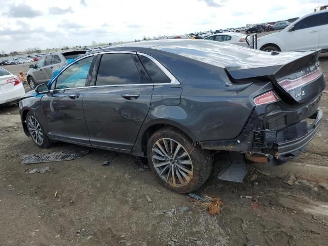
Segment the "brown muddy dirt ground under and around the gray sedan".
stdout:
[[[328,77],[328,55],[320,61]],[[22,69],[6,68],[16,74]],[[1,106],[0,245],[328,245],[328,93],[320,106],[321,129],[292,162],[250,165],[241,184],[217,178],[227,159],[217,156],[209,181],[195,192],[221,197],[225,207],[217,216],[187,195],[163,189],[136,157],[60,142],[37,148],[22,131],[18,108]],[[20,163],[23,154],[77,150],[90,153]],[[110,166],[101,166],[106,160]],[[42,167],[51,171],[27,171]],[[297,176],[292,186],[283,182],[289,172]]]

